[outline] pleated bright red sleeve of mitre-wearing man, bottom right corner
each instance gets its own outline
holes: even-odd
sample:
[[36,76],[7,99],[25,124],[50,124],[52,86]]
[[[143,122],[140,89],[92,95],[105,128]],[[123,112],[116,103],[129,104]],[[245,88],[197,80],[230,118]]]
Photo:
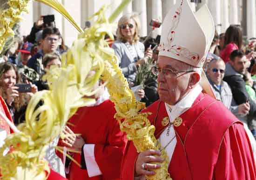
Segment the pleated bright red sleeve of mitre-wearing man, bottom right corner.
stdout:
[[233,124],[225,133],[214,176],[214,180],[256,180],[252,148],[242,124]]

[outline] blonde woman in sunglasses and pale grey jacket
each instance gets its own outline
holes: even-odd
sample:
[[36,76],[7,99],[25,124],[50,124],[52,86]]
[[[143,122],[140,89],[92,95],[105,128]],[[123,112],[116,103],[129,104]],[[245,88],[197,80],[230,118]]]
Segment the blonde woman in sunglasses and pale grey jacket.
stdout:
[[[119,60],[119,66],[129,85],[132,87],[135,82],[138,68],[152,58],[150,48],[145,52],[144,45],[139,41],[140,20],[135,13],[126,14],[118,21],[117,41],[112,45],[115,55]],[[138,90],[142,98],[144,90]]]

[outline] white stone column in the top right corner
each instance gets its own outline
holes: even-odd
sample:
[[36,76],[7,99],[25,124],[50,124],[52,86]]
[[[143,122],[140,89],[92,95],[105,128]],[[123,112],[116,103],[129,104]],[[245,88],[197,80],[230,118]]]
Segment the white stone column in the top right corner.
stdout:
[[247,37],[256,37],[256,6],[255,0],[247,0]]

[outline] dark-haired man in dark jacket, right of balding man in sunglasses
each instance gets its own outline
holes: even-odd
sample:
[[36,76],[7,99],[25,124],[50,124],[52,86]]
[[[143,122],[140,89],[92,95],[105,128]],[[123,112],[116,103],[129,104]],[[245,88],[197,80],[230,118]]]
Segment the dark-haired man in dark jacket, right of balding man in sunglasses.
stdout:
[[245,89],[245,81],[243,80],[243,74],[246,71],[246,63],[248,59],[243,54],[242,51],[235,50],[230,55],[230,61],[226,64],[226,71],[224,76],[224,81],[226,81],[234,97],[234,100],[237,105],[249,102],[250,110],[248,116],[238,117],[245,123],[249,119],[249,116],[256,116],[256,102],[253,101],[248,92]]

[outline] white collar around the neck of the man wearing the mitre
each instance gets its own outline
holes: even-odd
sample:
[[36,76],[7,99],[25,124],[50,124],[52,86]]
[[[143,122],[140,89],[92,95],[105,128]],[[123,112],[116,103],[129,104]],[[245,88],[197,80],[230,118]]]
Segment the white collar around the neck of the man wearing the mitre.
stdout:
[[197,84],[194,89],[192,89],[186,96],[182,98],[182,100],[180,100],[175,105],[169,105],[168,103],[165,103],[170,121],[174,122],[176,117],[180,116],[183,112],[188,110],[193,105],[195,99],[201,92],[202,87],[200,84]]

